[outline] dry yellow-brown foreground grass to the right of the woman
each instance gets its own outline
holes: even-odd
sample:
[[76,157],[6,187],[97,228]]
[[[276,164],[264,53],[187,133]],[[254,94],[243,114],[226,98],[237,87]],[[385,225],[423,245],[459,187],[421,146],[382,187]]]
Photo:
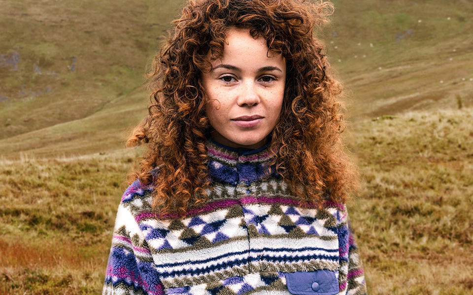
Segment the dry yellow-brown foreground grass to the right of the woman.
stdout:
[[354,228],[371,294],[473,294],[473,109],[357,123]]

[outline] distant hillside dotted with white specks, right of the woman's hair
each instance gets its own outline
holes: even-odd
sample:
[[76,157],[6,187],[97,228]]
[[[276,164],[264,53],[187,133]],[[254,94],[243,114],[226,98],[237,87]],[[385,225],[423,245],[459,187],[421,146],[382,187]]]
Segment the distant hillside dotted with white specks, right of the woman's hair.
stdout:
[[356,119],[473,105],[473,1],[335,1],[328,54]]

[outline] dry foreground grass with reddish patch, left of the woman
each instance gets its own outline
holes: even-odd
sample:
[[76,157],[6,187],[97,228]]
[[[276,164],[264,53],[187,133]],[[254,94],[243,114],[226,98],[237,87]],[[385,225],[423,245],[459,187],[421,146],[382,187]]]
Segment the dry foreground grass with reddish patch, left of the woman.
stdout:
[[98,294],[135,151],[0,160],[0,294]]

